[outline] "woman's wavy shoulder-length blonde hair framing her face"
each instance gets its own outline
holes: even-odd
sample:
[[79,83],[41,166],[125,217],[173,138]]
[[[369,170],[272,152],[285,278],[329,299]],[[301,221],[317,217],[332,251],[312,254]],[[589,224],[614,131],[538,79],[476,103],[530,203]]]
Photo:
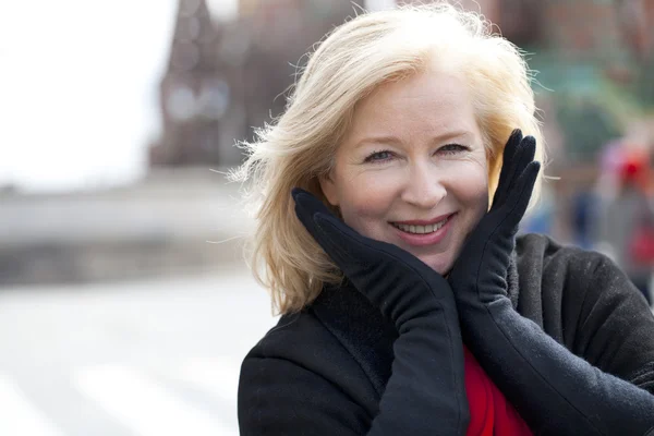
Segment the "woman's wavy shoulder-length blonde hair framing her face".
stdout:
[[310,56],[284,113],[258,130],[255,142],[243,144],[247,158],[231,173],[232,180],[250,182],[245,199],[257,222],[250,266],[270,291],[277,312],[300,311],[325,283],[342,279],[296,219],[291,190],[305,189],[328,205],[318,178],[330,171],[356,102],[377,86],[435,63],[463,75],[472,90],[487,149],[491,197],[513,129],[535,136],[536,159],[543,161],[530,71],[519,49],[493,34],[491,23],[447,3],[355,16]]

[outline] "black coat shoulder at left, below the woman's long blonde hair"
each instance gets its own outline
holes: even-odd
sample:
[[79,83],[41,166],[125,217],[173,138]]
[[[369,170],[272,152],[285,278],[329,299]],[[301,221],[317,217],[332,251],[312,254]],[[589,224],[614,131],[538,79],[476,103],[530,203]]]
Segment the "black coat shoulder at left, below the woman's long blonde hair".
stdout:
[[368,386],[314,314],[282,316],[241,365],[240,434],[364,434],[378,402]]

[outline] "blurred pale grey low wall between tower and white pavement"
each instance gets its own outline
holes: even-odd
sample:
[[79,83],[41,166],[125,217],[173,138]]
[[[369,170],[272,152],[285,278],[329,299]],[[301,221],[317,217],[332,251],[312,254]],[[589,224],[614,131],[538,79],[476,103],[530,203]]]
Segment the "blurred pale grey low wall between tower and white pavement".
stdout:
[[238,186],[209,169],[156,169],[97,193],[1,199],[0,284],[208,271],[241,263],[251,221]]

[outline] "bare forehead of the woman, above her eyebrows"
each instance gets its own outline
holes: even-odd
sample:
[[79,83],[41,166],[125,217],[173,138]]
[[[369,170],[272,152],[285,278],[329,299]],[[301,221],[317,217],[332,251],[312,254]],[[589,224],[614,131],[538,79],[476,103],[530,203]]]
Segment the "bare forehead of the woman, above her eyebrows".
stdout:
[[467,83],[427,71],[377,87],[354,109],[351,134],[413,135],[447,131],[479,134]]

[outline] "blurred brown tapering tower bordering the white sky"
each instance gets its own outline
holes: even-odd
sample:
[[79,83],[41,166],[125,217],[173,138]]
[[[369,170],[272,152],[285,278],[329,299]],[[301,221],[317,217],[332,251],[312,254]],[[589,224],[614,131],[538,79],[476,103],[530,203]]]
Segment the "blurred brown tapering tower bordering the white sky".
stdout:
[[230,99],[218,40],[204,0],[180,0],[168,70],[160,85],[164,134],[150,150],[154,165],[215,161],[220,119]]

